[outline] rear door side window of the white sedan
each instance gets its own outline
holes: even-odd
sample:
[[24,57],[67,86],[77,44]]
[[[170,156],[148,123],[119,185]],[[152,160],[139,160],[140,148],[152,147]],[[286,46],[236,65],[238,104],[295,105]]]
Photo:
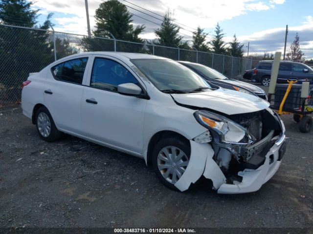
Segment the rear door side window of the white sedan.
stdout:
[[88,58],[72,59],[51,68],[53,77],[60,81],[82,84]]

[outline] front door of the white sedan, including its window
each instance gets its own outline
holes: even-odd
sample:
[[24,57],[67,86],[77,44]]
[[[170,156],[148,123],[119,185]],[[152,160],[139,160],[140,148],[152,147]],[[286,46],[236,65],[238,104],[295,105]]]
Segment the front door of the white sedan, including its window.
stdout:
[[141,154],[147,100],[119,94],[117,85],[134,83],[143,89],[143,83],[125,63],[111,57],[94,57],[88,77],[81,104],[84,136]]

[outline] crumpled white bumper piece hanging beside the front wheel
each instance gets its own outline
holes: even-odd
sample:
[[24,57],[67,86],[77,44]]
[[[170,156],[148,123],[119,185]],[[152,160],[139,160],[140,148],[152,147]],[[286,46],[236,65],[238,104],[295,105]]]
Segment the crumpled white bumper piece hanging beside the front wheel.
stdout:
[[214,188],[218,189],[226,178],[213,160],[214,151],[209,144],[200,144],[190,140],[191,154],[189,164],[184,174],[176,182],[175,186],[181,192],[189,188],[191,183],[195,183],[202,175],[213,181]]

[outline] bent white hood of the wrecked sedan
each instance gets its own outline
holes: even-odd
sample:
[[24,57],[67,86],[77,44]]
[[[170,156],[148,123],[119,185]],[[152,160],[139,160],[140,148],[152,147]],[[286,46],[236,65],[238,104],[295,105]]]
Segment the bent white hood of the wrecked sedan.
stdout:
[[171,95],[179,104],[208,108],[226,115],[260,111],[269,106],[267,101],[256,96],[223,88],[199,93]]

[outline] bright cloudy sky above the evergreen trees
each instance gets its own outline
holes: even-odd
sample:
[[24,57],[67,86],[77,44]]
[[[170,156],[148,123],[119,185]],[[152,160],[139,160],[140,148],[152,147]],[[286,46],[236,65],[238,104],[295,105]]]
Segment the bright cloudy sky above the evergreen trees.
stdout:
[[[91,30],[95,29],[94,14],[102,1],[105,0],[88,0]],[[184,39],[191,41],[192,32],[200,26],[208,33],[209,40],[214,35],[216,24],[219,23],[224,30],[225,42],[230,42],[236,34],[245,45],[245,52],[249,42],[249,55],[283,52],[288,24],[287,52],[295,34],[298,33],[300,48],[305,53],[306,59],[313,59],[313,0],[119,1],[129,6],[129,12],[134,14],[132,18],[134,26],[141,24],[146,26],[140,35],[144,39],[155,38],[154,30],[161,24],[161,20],[158,19],[161,19],[160,16],[169,9],[174,15],[175,22],[181,27],[180,33]],[[37,0],[33,8],[40,9],[39,23],[45,21],[48,13],[54,14],[52,22],[55,24],[55,31],[87,35],[85,0]]]

